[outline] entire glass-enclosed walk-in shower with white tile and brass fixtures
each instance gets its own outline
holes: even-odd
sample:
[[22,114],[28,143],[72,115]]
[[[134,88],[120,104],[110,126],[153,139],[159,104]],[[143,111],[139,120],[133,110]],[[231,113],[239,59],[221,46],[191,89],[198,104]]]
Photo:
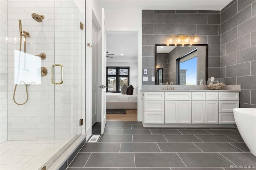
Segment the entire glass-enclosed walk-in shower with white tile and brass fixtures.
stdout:
[[82,14],[1,0],[1,169],[46,169],[82,133]]

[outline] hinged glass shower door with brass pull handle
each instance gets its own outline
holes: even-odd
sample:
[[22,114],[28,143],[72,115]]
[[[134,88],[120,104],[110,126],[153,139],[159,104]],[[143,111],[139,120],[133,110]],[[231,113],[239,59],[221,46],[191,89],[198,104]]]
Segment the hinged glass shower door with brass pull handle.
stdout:
[[73,0],[55,2],[54,152],[55,158],[81,134],[82,14]]

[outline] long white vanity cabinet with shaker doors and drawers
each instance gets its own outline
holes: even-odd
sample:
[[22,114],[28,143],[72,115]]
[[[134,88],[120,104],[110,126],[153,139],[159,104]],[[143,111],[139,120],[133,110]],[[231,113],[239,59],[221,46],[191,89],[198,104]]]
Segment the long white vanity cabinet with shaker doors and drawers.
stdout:
[[145,125],[216,127],[235,124],[233,109],[239,107],[239,92],[146,91],[142,106]]

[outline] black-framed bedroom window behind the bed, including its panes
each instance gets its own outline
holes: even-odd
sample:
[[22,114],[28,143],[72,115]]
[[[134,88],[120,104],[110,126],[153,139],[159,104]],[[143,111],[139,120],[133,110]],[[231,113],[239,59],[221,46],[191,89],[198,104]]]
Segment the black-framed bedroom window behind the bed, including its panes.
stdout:
[[129,70],[130,67],[107,67],[107,92],[121,91],[121,87],[129,85]]

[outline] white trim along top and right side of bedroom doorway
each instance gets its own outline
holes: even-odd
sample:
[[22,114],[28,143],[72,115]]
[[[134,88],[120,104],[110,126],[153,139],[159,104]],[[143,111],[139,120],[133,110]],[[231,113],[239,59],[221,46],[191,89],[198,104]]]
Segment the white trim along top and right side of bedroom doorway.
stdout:
[[106,32],[135,32],[138,38],[138,102],[137,102],[137,119],[142,121],[142,101],[141,101],[141,89],[142,89],[142,28],[141,27],[125,27],[125,28],[106,28]]

